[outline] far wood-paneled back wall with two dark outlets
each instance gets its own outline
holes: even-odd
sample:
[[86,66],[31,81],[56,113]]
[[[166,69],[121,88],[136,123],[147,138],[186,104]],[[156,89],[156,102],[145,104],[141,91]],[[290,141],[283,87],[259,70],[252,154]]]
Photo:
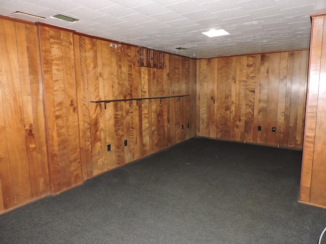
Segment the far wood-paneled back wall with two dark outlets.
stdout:
[[197,134],[302,148],[307,61],[306,50],[199,59]]

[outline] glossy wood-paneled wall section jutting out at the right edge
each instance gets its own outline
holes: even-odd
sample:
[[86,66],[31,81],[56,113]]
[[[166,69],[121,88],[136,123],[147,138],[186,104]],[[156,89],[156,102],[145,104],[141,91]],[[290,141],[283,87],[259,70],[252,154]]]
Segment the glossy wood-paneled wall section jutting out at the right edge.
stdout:
[[312,16],[300,201],[326,207],[326,15]]

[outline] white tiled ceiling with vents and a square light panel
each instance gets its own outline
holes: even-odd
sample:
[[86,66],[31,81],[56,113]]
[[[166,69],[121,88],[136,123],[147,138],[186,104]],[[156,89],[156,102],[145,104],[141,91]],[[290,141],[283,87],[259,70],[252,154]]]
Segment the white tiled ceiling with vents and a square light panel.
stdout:
[[0,15],[196,58],[309,48],[310,15],[324,12],[326,0],[0,0]]

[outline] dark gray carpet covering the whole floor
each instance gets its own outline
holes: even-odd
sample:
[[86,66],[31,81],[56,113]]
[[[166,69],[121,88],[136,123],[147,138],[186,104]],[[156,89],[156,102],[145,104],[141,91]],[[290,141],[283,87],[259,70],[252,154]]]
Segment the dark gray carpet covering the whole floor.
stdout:
[[297,202],[301,157],[193,138],[0,216],[0,243],[317,244],[326,211]]

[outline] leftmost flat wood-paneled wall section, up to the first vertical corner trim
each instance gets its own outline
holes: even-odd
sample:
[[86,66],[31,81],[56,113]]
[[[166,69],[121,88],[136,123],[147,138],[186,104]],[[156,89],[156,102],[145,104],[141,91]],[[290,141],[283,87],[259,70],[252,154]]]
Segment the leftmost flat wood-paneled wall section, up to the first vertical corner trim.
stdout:
[[37,28],[0,19],[0,212],[50,193]]

